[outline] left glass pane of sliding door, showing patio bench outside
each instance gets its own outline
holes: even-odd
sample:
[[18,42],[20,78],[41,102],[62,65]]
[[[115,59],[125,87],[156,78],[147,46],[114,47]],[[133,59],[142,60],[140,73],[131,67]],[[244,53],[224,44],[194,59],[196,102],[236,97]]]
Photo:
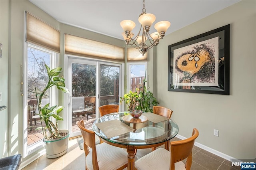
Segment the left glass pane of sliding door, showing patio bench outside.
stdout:
[[88,128],[95,115],[96,65],[72,63],[72,133],[80,132],[77,127],[80,119],[84,119]]

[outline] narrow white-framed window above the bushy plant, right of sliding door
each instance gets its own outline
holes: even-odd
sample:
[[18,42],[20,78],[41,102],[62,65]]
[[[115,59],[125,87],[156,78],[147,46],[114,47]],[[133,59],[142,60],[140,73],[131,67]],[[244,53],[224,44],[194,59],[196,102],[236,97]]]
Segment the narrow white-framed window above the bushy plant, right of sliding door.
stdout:
[[136,87],[138,87],[138,84],[143,84],[146,68],[147,62],[128,63],[127,91],[131,90],[134,92],[136,90]]

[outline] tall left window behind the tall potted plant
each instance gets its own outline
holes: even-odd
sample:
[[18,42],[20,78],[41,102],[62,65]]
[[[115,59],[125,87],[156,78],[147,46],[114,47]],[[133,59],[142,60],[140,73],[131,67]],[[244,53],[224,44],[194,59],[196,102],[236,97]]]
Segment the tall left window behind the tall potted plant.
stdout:
[[[25,134],[24,155],[33,152],[33,150],[40,148],[42,145],[42,139],[44,138],[42,129],[37,130],[36,128],[45,126],[44,122],[41,123],[40,118],[36,115],[38,113],[36,91],[42,91],[48,81],[48,74],[44,64],[50,68],[56,67],[57,54],[53,51],[44,49],[37,45],[27,44],[27,67],[24,70],[24,124],[27,125]],[[44,99],[42,100],[42,107],[47,103],[54,103],[56,95],[54,89],[46,91]],[[25,116],[27,115],[27,116]],[[26,119],[25,119],[26,118]],[[40,142],[39,142],[40,141]]]

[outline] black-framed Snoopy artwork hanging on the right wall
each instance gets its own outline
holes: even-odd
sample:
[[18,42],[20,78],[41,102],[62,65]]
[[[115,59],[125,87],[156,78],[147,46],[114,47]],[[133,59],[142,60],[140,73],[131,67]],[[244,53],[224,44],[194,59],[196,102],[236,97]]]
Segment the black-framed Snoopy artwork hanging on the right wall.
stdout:
[[168,91],[230,94],[230,24],[168,45]]

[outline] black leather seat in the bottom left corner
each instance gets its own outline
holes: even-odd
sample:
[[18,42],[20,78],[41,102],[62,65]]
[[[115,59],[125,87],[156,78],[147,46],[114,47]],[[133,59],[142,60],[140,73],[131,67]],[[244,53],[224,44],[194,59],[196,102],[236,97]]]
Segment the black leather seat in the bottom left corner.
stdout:
[[21,163],[21,154],[0,159],[0,170],[18,170]]

